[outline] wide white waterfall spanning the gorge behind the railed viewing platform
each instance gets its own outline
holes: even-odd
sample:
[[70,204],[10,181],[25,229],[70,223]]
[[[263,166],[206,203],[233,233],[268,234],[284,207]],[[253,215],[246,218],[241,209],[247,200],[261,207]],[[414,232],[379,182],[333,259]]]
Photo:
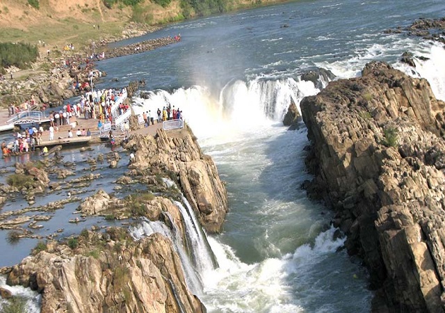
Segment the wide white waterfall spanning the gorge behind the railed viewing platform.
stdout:
[[[320,78],[321,86],[326,81]],[[184,119],[198,138],[209,138],[227,132],[251,129],[261,125],[281,122],[291,104],[298,106],[309,95],[320,90],[312,81],[285,78],[266,80],[261,77],[251,81],[229,81],[215,97],[208,88],[193,86],[179,88],[169,93],[152,90],[147,99],[133,100],[136,114],[162,110],[171,104],[183,112]]]

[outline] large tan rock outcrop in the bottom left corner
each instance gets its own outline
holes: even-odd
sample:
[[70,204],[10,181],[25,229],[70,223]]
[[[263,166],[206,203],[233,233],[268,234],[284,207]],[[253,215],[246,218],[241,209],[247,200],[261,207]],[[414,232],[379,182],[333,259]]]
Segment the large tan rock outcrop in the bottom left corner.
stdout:
[[8,284],[42,294],[42,312],[205,312],[160,234],[136,242],[111,228],[44,248],[6,271]]

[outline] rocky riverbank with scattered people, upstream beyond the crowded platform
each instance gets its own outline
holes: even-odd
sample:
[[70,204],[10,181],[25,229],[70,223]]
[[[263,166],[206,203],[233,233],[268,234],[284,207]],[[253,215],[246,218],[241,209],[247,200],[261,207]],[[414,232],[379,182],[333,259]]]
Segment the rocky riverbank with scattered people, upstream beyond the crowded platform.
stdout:
[[[122,33],[122,38],[136,37],[149,31],[155,31],[159,27],[143,27],[138,24],[131,24]],[[104,52],[104,58],[115,58],[129,54],[138,54],[150,51],[166,45],[171,45],[179,41],[179,38],[165,37],[153,40],[145,40],[136,44],[125,45],[123,47],[109,48],[108,44],[122,40],[114,38],[102,40],[97,45],[88,45],[80,51],[51,51],[51,54],[42,56],[37,63],[32,65],[31,70],[27,70],[24,79],[10,79],[4,77],[0,80],[0,104],[6,108],[10,104],[20,106],[26,101],[33,99],[37,106],[43,104],[49,106],[59,106],[63,100],[80,95],[88,88],[76,88],[83,83],[90,82],[90,74],[93,74],[92,81],[99,81],[100,77],[106,76],[106,72],[95,70],[93,61],[103,58],[92,59],[92,51],[96,51],[97,56]],[[94,49],[93,49],[94,48]],[[56,52],[60,52],[60,56]],[[49,69],[47,69],[49,67]],[[13,77],[16,77],[18,69],[9,69]]]

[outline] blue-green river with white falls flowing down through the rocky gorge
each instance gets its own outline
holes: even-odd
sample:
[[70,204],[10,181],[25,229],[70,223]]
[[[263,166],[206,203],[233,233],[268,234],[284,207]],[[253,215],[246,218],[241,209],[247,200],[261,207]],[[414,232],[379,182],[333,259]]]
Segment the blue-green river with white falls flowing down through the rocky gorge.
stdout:
[[[387,61],[428,79],[445,100],[445,50],[404,33],[384,33],[419,17],[443,17],[443,1],[295,1],[172,24],[115,45],[181,34],[181,42],[97,63],[98,88],[145,79],[138,111],[170,103],[183,111],[204,152],[227,183],[223,232],[209,236],[219,268],[201,273],[209,312],[369,312],[366,270],[343,250],[332,213],[307,199],[305,127],[282,118],[327,81],[300,81],[323,68],[357,77]],[[425,56],[416,69],[401,54]],[[117,81],[116,81],[117,79]]]

